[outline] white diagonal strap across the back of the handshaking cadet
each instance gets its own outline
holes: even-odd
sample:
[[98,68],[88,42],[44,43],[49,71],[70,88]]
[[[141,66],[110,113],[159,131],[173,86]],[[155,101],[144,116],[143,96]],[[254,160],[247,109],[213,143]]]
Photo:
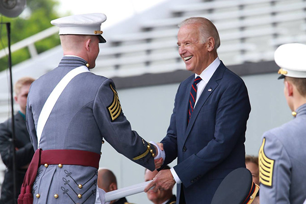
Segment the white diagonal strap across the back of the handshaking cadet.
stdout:
[[36,134],[37,134],[37,148],[39,148],[40,137],[43,131],[43,128],[49,118],[49,115],[55,106],[56,101],[60,97],[61,93],[67,86],[67,84],[78,74],[89,71],[86,66],[80,66],[77,68],[72,69],[69,71],[65,77],[56,85],[53,91],[50,93],[49,97],[47,98],[45,104],[42,107],[40,115],[38,117]]

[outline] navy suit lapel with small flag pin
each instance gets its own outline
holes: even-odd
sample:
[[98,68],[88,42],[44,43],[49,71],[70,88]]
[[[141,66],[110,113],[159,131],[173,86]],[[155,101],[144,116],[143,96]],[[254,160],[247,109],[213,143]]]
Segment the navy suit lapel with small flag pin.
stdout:
[[[192,129],[192,126],[202,108],[202,106],[206,103],[208,97],[215,91],[215,89],[218,87],[218,83],[217,81],[222,79],[223,77],[223,73],[224,73],[224,70],[225,70],[225,66],[224,64],[220,63],[220,65],[218,66],[218,68],[216,69],[215,73],[212,75],[212,78],[209,80],[209,82],[207,83],[206,87],[204,88],[202,94],[200,95],[200,98],[199,100],[197,101],[197,104],[191,114],[191,118],[190,118],[190,121],[187,125],[187,129],[186,129],[186,133],[184,135],[184,143],[185,141],[187,140],[188,136],[189,136],[189,133]],[[190,85],[191,86],[191,85]],[[187,113],[187,112],[186,112]],[[187,121],[187,119],[186,119]]]

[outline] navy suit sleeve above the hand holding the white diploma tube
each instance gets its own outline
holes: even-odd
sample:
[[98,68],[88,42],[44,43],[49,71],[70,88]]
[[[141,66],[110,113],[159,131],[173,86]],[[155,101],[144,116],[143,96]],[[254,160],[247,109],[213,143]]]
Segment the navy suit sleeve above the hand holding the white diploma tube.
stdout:
[[250,104],[244,83],[236,81],[236,83],[227,84],[216,104],[214,138],[200,151],[174,166],[175,172],[185,187],[192,185],[225,160],[238,140],[242,143],[245,140]]

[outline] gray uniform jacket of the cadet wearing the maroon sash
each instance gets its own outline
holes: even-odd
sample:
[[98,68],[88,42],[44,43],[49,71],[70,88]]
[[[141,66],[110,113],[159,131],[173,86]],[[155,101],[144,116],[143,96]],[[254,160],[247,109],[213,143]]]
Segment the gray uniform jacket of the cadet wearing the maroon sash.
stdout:
[[[37,121],[47,97],[65,74],[86,63],[78,57],[63,57],[57,68],[32,84],[26,116],[35,149]],[[60,95],[46,121],[39,147],[100,154],[103,138],[131,160],[142,155],[135,162],[150,170],[155,169],[152,155],[143,155],[148,143],[131,130],[122,113],[113,81],[84,72],[74,77]],[[34,203],[94,203],[96,185],[97,169],[94,167],[41,165],[33,185]]]

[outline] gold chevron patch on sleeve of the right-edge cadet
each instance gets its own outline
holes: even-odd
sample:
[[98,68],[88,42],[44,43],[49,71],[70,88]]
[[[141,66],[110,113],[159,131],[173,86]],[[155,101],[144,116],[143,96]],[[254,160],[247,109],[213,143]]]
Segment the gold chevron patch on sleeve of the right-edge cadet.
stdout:
[[272,187],[272,175],[274,160],[269,159],[264,152],[266,138],[263,139],[263,143],[259,149],[258,160],[259,160],[259,181],[265,186]]

